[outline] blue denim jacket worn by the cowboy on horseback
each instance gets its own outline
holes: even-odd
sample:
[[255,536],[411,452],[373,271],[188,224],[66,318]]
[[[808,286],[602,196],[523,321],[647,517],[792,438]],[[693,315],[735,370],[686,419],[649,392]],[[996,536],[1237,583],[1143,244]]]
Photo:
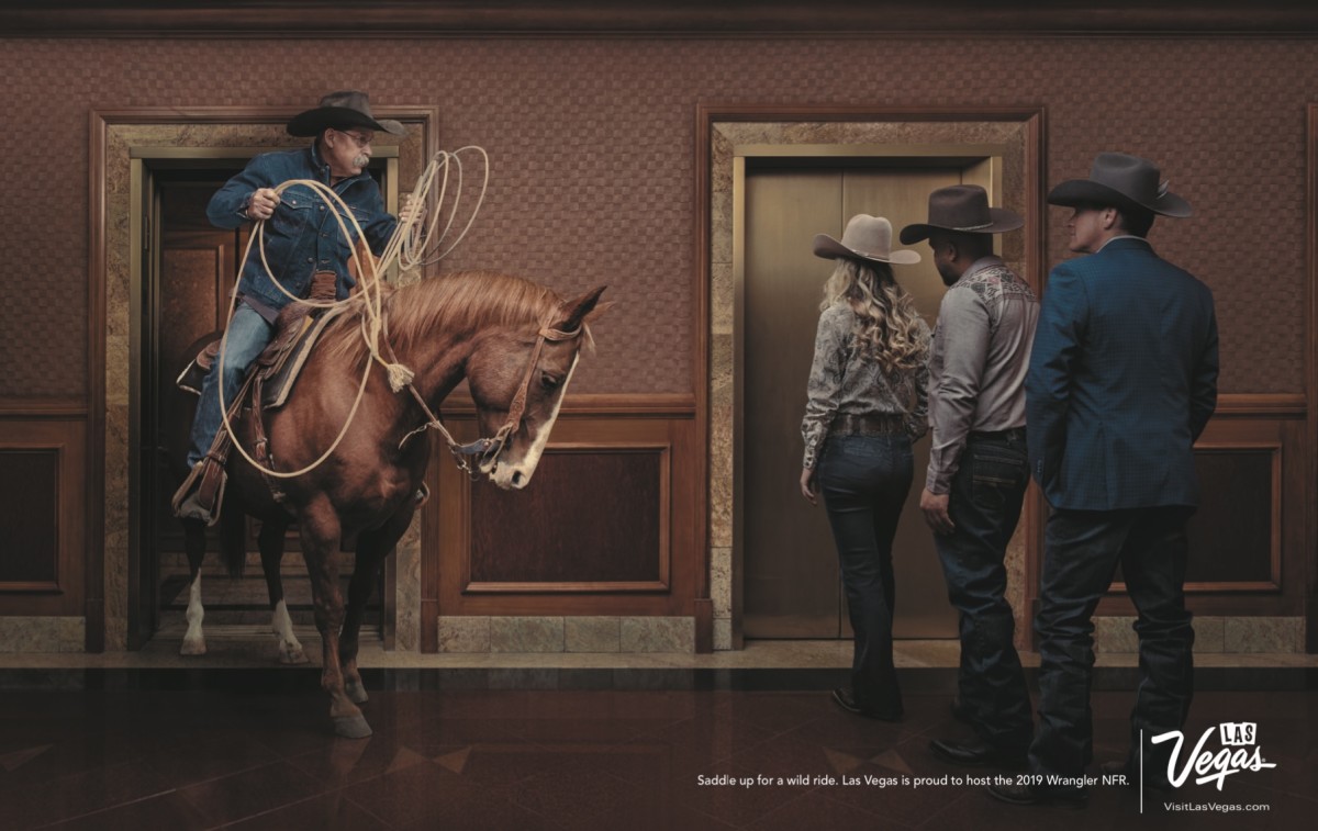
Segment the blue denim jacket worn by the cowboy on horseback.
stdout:
[[[206,215],[217,228],[237,228],[248,221],[245,209],[257,188],[278,187],[290,179],[311,179],[330,184],[330,165],[320,159],[314,144],[302,150],[257,155],[243,173],[215,192]],[[385,212],[380,186],[370,174],[362,171],[335,184],[333,191],[357,217],[370,250],[380,254],[398,224],[397,219]],[[343,238],[339,223],[326,205],[326,200],[306,186],[293,186],[283,191],[279,199],[274,216],[265,223],[265,257],[270,263],[270,273],[286,290],[301,298],[310,291],[312,274],[333,271],[339,275],[339,298],[348,296],[348,288],[355,283],[348,275],[352,249]],[[347,217],[344,223],[352,233],[352,223]],[[253,307],[257,311],[262,311],[258,304],[277,311],[291,303],[278,286],[270,282],[256,245],[252,246],[252,254],[243,267],[239,291],[256,300]]]

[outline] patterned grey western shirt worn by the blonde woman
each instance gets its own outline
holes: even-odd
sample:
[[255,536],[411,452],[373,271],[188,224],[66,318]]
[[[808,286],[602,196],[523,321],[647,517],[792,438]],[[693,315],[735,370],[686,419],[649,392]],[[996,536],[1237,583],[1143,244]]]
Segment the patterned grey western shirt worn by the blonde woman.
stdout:
[[[884,373],[857,342],[861,319],[846,300],[838,300],[820,313],[815,335],[815,361],[807,382],[805,439],[803,465],[815,469],[829,427],[838,415],[898,415],[912,439],[928,429],[925,385],[929,369]],[[929,327],[920,324],[920,338],[928,340]]]

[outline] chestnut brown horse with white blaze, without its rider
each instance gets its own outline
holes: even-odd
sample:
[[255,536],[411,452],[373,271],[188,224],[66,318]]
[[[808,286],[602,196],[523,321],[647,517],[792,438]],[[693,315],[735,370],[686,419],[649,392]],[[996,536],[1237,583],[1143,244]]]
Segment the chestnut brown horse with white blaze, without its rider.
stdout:
[[[273,469],[301,470],[335,441],[372,362],[361,404],[335,452],[308,473],[281,479],[268,479],[241,454],[231,454],[220,522],[225,522],[224,512],[236,514],[235,508],[262,520],[261,560],[277,635],[282,610],[278,556],[285,529],[298,524],[323,647],[322,686],[330,694],[330,715],[340,736],[370,735],[357,707],[366,701],[357,672],[357,635],[378,566],[423,498],[422,479],[431,456],[430,431],[424,428],[432,412],[465,378],[486,439],[455,445],[455,453],[469,454],[473,474],[485,474],[500,487],[526,487],[577,354],[589,342],[588,324],[612,306],[597,304],[602,291],[601,286],[563,300],[517,277],[467,271],[387,292],[380,352],[415,373],[413,389],[399,392],[366,349],[358,299],[356,313],[349,309],[326,327],[287,403],[265,414]],[[236,420],[233,431],[235,440],[250,453],[250,424]],[[282,491],[278,499],[272,483]],[[183,524],[194,594],[199,595],[200,556],[192,564],[191,552],[204,553],[206,529],[196,520]],[[339,550],[356,552],[347,604],[339,591]],[[199,598],[196,606],[199,612]],[[191,622],[191,604],[188,618]],[[291,636],[291,630],[287,633]],[[282,660],[297,660],[287,655],[290,649],[281,636]]]

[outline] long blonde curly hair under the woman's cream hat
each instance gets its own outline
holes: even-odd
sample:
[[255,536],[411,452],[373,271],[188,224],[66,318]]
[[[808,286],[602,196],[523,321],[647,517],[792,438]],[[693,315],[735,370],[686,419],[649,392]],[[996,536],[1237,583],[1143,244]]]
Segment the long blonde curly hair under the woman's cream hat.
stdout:
[[838,257],[824,284],[820,311],[844,300],[855,312],[862,354],[876,361],[884,374],[924,365],[929,350],[927,327],[915,300],[892,278],[892,266]]

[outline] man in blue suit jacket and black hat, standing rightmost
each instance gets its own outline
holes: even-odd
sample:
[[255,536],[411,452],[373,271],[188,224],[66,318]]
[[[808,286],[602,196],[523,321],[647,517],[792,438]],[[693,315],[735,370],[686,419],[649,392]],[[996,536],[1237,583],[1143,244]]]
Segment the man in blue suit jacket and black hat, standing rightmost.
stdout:
[[[1123,770],[1133,782],[1143,730],[1144,782],[1166,786],[1168,745],[1148,739],[1181,728],[1194,691],[1185,525],[1198,503],[1194,441],[1217,404],[1213,294],[1144,238],[1156,215],[1190,215],[1152,162],[1102,153],[1089,179],[1048,201],[1074,208],[1070,250],[1089,257],[1049,275],[1025,381],[1031,470],[1052,506],[1029,770],[1077,777],[1093,759],[1091,618],[1120,565],[1140,640]],[[1086,798],[1082,788],[991,790],[1017,803]]]

